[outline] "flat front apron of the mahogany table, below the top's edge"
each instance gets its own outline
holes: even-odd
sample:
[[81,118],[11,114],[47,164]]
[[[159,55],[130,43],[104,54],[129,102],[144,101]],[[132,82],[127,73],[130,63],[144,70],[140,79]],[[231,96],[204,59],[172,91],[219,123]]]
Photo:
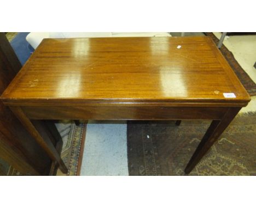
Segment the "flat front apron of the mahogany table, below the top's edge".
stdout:
[[230,107],[21,106],[30,119],[172,120],[222,119]]

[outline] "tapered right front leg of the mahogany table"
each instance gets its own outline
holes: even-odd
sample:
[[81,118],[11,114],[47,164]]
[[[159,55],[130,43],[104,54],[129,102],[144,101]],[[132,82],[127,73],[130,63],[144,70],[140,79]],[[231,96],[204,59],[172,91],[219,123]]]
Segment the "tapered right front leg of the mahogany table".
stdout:
[[211,148],[214,142],[224,132],[226,127],[229,126],[231,121],[235,118],[236,114],[241,108],[229,108],[221,120],[213,120],[210,127],[203,136],[201,142],[197,146],[193,156],[185,168],[185,173],[190,173],[206,152]]

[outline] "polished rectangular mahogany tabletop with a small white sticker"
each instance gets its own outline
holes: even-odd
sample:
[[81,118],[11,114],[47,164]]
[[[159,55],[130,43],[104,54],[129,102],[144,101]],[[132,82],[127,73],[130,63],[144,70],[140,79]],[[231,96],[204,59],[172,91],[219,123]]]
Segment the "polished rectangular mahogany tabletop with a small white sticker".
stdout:
[[1,99],[10,105],[169,102],[231,106],[245,106],[250,100],[207,36],[44,39]]

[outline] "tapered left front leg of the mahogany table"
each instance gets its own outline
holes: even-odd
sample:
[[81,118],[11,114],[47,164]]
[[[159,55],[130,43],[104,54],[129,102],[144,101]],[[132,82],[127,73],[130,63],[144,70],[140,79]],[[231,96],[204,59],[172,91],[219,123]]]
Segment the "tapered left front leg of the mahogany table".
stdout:
[[36,139],[37,143],[45,150],[51,160],[56,161],[59,164],[59,168],[62,173],[67,173],[68,169],[65,163],[62,161],[60,154],[55,149],[53,143],[46,143],[45,140],[40,136],[36,127],[31,123],[30,119],[27,118],[26,114],[22,111],[20,107],[10,107],[11,111],[16,115],[16,117],[24,125],[25,129],[31,134],[31,136]]

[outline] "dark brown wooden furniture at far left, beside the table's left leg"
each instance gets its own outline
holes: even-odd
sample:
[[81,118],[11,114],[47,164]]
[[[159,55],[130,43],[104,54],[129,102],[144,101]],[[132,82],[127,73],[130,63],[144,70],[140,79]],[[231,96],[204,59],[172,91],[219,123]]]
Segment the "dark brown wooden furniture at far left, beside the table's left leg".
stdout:
[[[21,64],[13,48],[5,34],[0,33],[0,94],[20,69]],[[54,145],[61,146],[61,137],[53,123],[32,122],[43,139],[51,140]],[[0,157],[24,175],[54,174],[50,157],[2,101],[0,101]]]

